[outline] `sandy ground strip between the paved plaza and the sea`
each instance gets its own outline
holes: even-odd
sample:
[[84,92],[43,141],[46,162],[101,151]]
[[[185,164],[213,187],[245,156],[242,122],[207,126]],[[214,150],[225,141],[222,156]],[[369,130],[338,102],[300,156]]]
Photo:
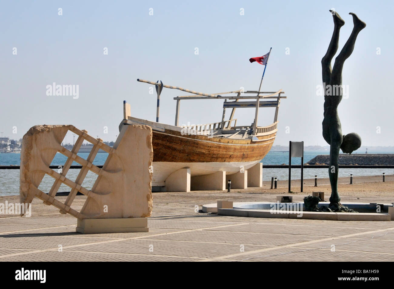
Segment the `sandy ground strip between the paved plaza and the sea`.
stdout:
[[[353,177],[353,184],[349,184],[350,179],[338,178],[338,190],[342,201],[359,201],[371,202],[377,201],[383,203],[394,202],[394,175],[387,175],[385,182],[382,181],[382,176],[366,176]],[[304,196],[312,195],[312,192],[324,192],[324,196],[330,196],[331,186],[329,179],[318,179],[318,186],[314,186],[314,179],[305,179],[303,185],[303,192],[301,193],[301,180],[292,180],[290,195],[293,196],[294,201],[303,201]],[[288,181],[278,181],[277,189],[271,189],[271,182],[263,182],[262,188],[247,188],[247,189],[231,189],[230,193],[226,191],[191,191],[191,192],[154,192],[153,194],[153,212],[159,213],[160,205],[173,203],[172,211],[177,212],[180,203],[195,202],[201,206],[206,203],[214,203],[216,200],[230,200],[230,201],[275,201],[276,195],[287,195]],[[66,196],[56,197],[58,200],[65,200]],[[327,198],[327,199],[328,199]],[[85,201],[85,196],[77,196],[73,207],[80,210]],[[19,195],[15,196],[0,196],[0,202],[5,201],[16,202],[19,200]],[[64,201],[63,200],[63,201]],[[34,198],[33,200],[32,216],[42,216],[57,212],[53,206],[47,206],[41,200]],[[180,207],[178,207],[180,206]],[[201,208],[200,208],[201,209]],[[58,214],[58,213],[54,213]],[[0,218],[7,215],[0,215]],[[59,214],[59,216],[63,216]]]

